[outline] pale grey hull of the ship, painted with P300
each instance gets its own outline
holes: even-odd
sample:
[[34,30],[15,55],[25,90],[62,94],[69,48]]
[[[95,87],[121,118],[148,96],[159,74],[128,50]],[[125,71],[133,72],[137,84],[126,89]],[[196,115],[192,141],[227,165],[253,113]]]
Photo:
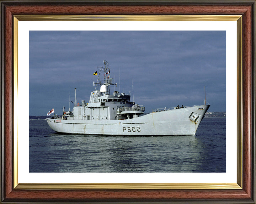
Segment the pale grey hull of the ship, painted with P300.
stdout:
[[210,105],[153,112],[125,120],[65,120],[47,118],[56,132],[85,135],[195,135]]

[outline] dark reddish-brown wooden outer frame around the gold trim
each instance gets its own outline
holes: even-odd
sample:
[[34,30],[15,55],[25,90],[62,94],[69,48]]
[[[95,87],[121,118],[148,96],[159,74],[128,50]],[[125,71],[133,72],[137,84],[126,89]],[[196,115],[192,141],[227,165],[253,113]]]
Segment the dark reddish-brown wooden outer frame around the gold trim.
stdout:
[[[2,203],[256,203],[255,0],[49,1],[1,0],[1,200]],[[21,190],[13,188],[14,15],[242,15],[242,189]]]

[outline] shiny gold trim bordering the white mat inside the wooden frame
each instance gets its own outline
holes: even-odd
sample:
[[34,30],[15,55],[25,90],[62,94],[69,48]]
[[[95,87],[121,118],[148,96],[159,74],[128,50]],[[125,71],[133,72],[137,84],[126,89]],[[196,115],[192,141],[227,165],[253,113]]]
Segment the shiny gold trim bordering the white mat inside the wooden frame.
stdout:
[[[18,21],[237,21],[237,183],[18,183]],[[14,15],[15,189],[242,189],[242,16]]]

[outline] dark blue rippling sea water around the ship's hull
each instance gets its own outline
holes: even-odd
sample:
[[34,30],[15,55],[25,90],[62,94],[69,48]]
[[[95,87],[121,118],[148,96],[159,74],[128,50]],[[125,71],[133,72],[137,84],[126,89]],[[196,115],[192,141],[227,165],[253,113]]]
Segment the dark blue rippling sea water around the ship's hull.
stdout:
[[226,118],[194,136],[60,135],[30,120],[30,172],[226,172]]

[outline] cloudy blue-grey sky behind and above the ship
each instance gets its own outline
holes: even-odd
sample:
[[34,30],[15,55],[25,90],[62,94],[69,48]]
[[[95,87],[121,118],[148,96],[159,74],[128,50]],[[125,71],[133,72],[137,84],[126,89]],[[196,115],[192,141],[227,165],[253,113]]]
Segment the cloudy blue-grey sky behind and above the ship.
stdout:
[[30,115],[68,110],[74,88],[88,102],[103,60],[121,92],[132,95],[133,78],[145,112],[203,104],[204,85],[209,111],[226,111],[225,31],[30,31],[29,47]]

